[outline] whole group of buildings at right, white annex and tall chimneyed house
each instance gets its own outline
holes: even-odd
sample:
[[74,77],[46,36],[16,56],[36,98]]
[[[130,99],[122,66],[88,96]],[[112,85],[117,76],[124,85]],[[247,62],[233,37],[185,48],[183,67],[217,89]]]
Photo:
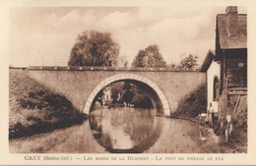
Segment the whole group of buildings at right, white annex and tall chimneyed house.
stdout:
[[[247,15],[229,6],[216,20],[216,52],[201,67],[207,73],[207,102],[213,105],[225,141],[231,133],[247,142]],[[221,130],[222,131],[222,130]]]

